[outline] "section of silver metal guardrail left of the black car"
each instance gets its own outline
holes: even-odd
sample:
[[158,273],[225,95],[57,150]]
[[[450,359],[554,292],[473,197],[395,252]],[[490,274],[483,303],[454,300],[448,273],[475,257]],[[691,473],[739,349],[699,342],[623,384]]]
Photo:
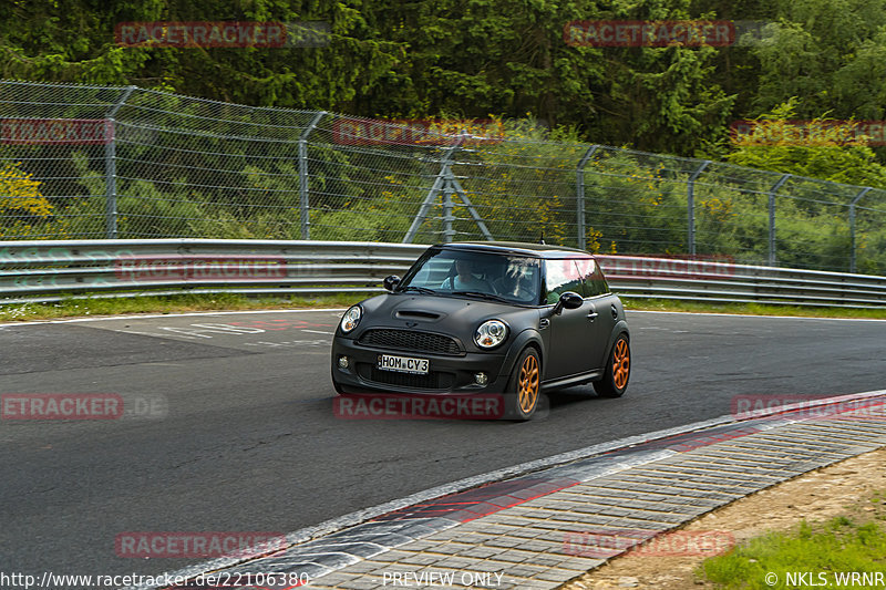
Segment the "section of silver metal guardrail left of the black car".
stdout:
[[425,248],[210,239],[0,241],[0,303],[78,294],[365,292],[409,268]]

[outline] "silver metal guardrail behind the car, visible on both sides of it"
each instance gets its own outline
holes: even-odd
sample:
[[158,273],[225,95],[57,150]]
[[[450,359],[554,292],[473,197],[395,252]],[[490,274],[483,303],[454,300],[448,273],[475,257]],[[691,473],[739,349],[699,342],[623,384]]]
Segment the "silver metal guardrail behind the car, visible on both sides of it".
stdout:
[[[288,240],[0,241],[0,304],[70,297],[381,291],[426,246]],[[725,258],[599,255],[622,297],[886,308],[886,277],[733,265]]]

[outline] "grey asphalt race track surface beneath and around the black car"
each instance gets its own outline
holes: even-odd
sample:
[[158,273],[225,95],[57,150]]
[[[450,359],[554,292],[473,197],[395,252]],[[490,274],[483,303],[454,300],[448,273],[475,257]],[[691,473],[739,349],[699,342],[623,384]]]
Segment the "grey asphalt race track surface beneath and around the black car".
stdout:
[[596,443],[731,412],[735,395],[886,385],[886,322],[629,312],[620,400],[552,395],[529,423],[333,415],[339,312],[0,327],[0,394],[136,401],[105,421],[0,421],[0,570],[156,575],[132,531],[274,531]]

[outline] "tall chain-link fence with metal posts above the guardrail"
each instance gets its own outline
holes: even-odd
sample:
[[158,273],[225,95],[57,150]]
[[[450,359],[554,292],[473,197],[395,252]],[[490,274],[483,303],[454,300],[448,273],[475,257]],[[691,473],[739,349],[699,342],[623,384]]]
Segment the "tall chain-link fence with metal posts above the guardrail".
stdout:
[[497,125],[0,82],[0,239],[544,239],[886,273],[886,190]]

